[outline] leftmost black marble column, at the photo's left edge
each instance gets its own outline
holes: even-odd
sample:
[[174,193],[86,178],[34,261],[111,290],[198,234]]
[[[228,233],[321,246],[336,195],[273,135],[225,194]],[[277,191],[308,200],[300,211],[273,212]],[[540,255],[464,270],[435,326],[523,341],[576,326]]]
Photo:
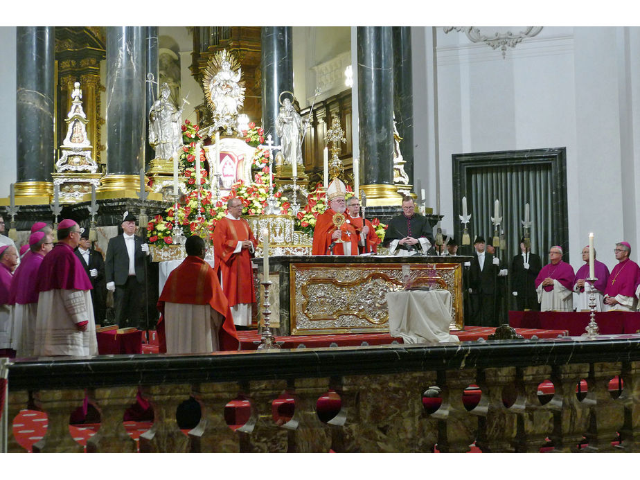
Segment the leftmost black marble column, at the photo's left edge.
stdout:
[[[54,27],[17,27],[17,181],[51,182],[53,144]],[[7,113],[7,112],[6,112]],[[44,186],[41,186],[44,188]],[[40,188],[27,195],[37,195]],[[16,188],[19,193],[20,188]],[[26,189],[29,190],[29,189]]]

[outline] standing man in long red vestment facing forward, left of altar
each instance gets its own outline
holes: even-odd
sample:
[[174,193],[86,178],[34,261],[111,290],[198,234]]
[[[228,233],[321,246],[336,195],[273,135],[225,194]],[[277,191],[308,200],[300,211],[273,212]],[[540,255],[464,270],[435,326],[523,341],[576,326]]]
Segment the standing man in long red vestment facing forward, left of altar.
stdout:
[[226,217],[218,220],[213,230],[213,271],[229,301],[233,323],[246,330],[251,326],[251,304],[256,302],[251,257],[258,242],[247,220],[240,218],[240,199],[229,199],[226,208]]

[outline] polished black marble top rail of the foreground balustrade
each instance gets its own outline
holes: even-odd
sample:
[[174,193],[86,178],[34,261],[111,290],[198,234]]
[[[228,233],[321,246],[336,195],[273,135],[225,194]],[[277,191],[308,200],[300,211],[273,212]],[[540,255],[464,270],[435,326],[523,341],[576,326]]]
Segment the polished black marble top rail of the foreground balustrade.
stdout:
[[18,359],[9,389],[82,389],[123,385],[249,382],[341,375],[640,361],[640,335],[465,341],[212,355],[103,355]]

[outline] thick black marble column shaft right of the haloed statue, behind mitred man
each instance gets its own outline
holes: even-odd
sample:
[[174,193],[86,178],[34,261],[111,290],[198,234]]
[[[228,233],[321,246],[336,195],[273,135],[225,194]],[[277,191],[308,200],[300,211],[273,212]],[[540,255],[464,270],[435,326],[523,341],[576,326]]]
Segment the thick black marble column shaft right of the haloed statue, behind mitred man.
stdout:
[[357,55],[360,183],[393,185],[391,27],[358,27]]

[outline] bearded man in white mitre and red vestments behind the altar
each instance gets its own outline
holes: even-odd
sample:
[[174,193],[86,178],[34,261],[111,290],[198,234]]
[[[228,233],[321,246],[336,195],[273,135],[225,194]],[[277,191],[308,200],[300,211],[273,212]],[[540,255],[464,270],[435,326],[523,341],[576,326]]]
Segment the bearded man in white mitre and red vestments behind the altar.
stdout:
[[329,208],[318,215],[313,230],[312,255],[357,255],[358,235],[346,220],[346,187],[334,179],[327,188]]

